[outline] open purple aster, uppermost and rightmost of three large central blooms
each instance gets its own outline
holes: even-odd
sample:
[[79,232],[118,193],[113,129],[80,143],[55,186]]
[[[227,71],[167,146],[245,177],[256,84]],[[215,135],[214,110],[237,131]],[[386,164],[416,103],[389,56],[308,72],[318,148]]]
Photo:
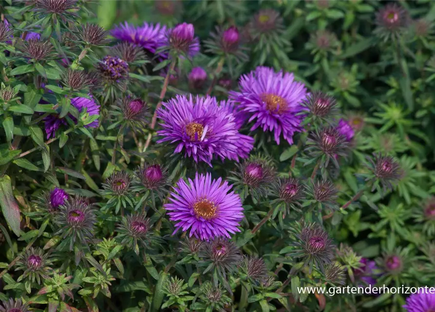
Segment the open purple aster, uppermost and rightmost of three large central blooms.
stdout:
[[240,109],[250,116],[248,121],[255,120],[251,131],[261,127],[273,132],[278,144],[282,133],[292,144],[293,134],[302,131],[300,113],[307,96],[303,83],[295,82],[293,74],[257,67],[240,78],[239,88],[240,92],[231,91],[229,98],[240,103]]

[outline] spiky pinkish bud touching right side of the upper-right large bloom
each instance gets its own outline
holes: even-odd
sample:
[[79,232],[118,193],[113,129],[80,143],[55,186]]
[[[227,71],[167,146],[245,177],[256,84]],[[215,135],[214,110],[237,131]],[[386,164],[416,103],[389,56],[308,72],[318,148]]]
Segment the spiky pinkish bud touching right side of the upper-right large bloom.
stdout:
[[309,109],[313,117],[326,118],[326,120],[331,120],[331,117],[339,112],[335,98],[319,91],[310,94],[310,97],[303,102],[303,105]]

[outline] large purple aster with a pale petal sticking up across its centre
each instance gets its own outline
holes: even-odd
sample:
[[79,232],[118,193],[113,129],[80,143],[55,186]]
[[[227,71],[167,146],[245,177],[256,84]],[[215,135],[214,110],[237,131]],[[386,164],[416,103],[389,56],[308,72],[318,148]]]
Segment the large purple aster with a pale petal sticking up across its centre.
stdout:
[[213,156],[223,159],[236,152],[234,117],[220,109],[216,98],[177,95],[163,105],[158,112],[163,130],[157,132],[163,138],[158,143],[176,143],[174,153],[184,149],[185,157],[210,166]]

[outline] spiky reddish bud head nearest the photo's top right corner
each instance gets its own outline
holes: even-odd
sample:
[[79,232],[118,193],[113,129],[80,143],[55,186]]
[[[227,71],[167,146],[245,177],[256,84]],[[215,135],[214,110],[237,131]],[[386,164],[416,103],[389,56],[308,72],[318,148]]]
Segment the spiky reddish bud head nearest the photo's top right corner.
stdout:
[[377,33],[384,40],[396,37],[409,22],[408,12],[397,3],[388,3],[376,13]]

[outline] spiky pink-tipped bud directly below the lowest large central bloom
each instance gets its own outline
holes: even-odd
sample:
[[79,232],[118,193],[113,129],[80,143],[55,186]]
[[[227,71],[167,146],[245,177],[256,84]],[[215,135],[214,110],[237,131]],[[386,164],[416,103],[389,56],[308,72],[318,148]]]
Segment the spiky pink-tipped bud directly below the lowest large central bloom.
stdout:
[[205,261],[205,264],[212,264],[203,274],[214,268],[224,277],[226,273],[235,271],[243,259],[237,245],[225,237],[215,237],[204,242],[199,256]]

